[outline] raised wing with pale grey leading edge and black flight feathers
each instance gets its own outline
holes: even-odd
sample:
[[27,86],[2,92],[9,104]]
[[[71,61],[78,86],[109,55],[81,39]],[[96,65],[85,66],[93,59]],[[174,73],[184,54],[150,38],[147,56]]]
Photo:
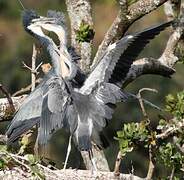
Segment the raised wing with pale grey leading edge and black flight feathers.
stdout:
[[123,37],[110,45],[99,64],[86,79],[80,89],[83,94],[90,94],[97,84],[102,82],[119,83],[124,80],[133,61],[148,42],[158,35],[170,22],[146,29],[134,35]]

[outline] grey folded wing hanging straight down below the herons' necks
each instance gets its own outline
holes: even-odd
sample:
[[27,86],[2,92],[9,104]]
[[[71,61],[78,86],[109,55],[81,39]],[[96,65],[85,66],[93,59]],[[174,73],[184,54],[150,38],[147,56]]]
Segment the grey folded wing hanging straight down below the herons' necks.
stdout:
[[38,135],[39,144],[46,144],[51,138],[51,135],[63,127],[66,108],[70,102],[66,85],[58,77],[52,78],[48,82],[47,89],[44,90],[43,94],[44,98]]

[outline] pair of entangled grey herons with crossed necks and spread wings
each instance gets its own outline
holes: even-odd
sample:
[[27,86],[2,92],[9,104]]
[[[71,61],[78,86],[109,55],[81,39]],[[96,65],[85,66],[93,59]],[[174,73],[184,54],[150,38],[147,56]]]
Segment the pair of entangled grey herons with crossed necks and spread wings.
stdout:
[[[8,142],[39,123],[40,144],[47,143],[56,130],[66,127],[78,149],[90,152],[91,141],[103,147],[100,133],[112,119],[113,105],[128,98],[121,84],[133,61],[172,21],[127,35],[109,45],[99,63],[78,86],[73,83],[79,72],[78,66],[67,52],[65,29],[58,26],[53,17],[40,17],[33,11],[25,13],[23,24],[27,32],[47,47],[53,69],[15,114],[7,131]],[[60,49],[42,28],[58,35]]]

